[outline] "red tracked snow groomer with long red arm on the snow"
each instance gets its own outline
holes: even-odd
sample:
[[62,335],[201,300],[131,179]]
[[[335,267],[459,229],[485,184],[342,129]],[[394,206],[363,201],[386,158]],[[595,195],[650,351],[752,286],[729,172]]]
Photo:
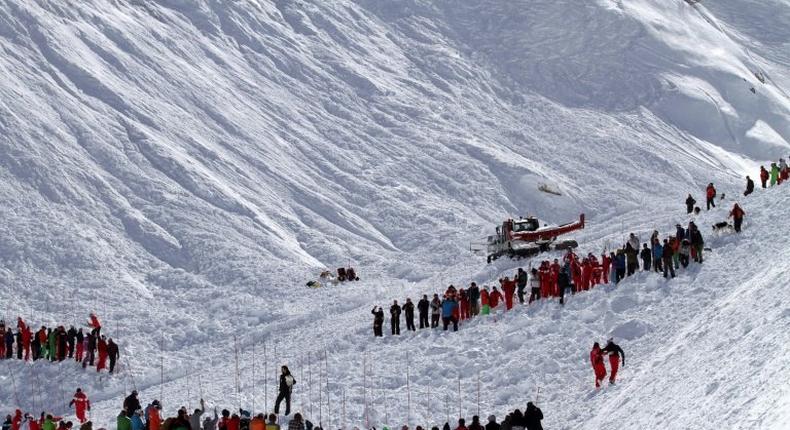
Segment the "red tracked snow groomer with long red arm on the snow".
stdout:
[[563,234],[584,228],[584,214],[579,220],[558,226],[544,225],[535,217],[508,219],[488,236],[488,262],[506,255],[510,258],[530,257],[551,250],[573,249],[579,244],[572,239],[557,241]]

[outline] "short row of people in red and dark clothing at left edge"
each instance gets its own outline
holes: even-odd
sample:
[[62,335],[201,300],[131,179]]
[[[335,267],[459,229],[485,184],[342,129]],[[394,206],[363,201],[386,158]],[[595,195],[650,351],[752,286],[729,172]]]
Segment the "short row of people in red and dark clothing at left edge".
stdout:
[[73,359],[82,363],[83,368],[94,366],[95,363],[97,372],[108,369],[113,373],[120,351],[112,338],[107,339],[101,334],[101,328],[98,317],[93,313],[88,319],[89,330],[77,329],[73,325],[68,330],[63,325],[42,325],[34,331],[30,324],[18,317],[14,333],[12,327],[0,320],[0,333],[3,334],[0,359],[52,362]]

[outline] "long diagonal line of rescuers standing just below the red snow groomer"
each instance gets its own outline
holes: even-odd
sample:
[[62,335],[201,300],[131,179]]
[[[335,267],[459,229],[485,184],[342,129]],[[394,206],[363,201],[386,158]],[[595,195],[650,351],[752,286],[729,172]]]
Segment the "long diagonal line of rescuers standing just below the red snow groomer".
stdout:
[[[741,218],[742,219],[742,218]],[[553,262],[544,260],[538,268],[530,268],[529,272],[519,268],[513,277],[505,276],[499,279],[499,287],[478,287],[472,282],[469,288],[457,289],[450,285],[443,293],[423,295],[415,305],[411,298],[401,306],[397,300],[389,308],[390,329],[393,336],[400,335],[401,315],[405,316],[406,330],[417,331],[415,312],[419,318],[419,329],[438,328],[439,321],[446,331],[452,326],[453,331],[458,330],[458,324],[478,315],[489,315],[504,308],[509,311],[518,298],[520,304],[531,304],[536,300],[559,298],[561,305],[565,304],[566,295],[587,291],[599,284],[609,284],[611,280],[617,284],[627,276],[639,270],[639,258],[642,259],[642,270],[650,271],[651,267],[656,272],[663,272],[664,277],[675,277],[675,270],[680,266],[684,268],[691,260],[702,263],[704,238],[694,222],[684,229],[676,225],[674,236],[659,239],[658,231],[654,231],[650,239],[650,247],[643,244],[640,252],[639,238],[631,233],[624,246],[616,251],[601,254],[600,259],[592,253],[586,257],[579,256],[568,250],[562,262],[555,258]],[[527,298],[527,287],[529,297]],[[375,306],[373,314],[373,335],[384,335],[384,308]],[[430,319],[429,319],[430,316]]]

